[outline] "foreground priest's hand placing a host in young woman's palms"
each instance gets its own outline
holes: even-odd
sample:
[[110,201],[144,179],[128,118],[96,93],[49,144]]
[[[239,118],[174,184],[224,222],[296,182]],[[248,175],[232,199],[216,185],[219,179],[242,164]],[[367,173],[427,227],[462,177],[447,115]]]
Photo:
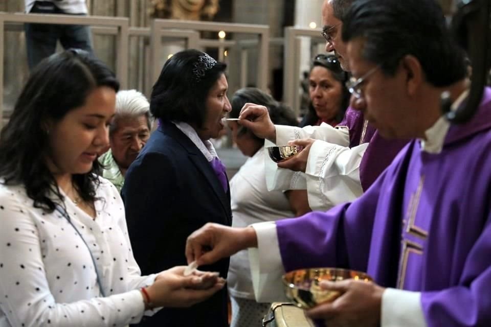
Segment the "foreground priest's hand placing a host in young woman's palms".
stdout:
[[198,266],[209,265],[249,247],[257,247],[254,228],[208,223],[188,237],[186,259],[188,264],[196,261]]

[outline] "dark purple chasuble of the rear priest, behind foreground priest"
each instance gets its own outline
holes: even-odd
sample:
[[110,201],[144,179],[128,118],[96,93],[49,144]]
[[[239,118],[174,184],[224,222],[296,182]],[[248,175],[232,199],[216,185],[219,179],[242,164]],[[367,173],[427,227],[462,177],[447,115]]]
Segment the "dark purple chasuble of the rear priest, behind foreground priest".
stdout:
[[350,148],[369,143],[360,162],[360,182],[364,192],[408,144],[408,140],[384,138],[365,121],[363,112],[351,107],[348,107],[343,121],[338,126],[348,127]]

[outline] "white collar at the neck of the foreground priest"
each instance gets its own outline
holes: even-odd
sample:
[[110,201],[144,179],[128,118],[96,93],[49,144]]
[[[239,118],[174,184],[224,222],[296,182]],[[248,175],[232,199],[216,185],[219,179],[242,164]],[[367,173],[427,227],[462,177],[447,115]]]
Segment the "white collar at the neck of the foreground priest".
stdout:
[[[463,91],[457,100],[452,104],[451,110],[455,111],[460,106],[462,101],[467,98],[469,90]],[[441,152],[443,148],[443,142],[445,141],[445,136],[450,128],[450,123],[444,116],[441,116],[436,123],[426,130],[425,139],[420,139],[421,142],[421,151],[438,154]]]

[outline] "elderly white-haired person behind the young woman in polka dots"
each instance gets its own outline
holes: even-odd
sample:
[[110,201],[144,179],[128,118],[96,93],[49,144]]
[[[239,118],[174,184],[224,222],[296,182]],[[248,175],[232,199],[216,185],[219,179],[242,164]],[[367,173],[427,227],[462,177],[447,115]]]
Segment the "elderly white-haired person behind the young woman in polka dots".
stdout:
[[102,176],[121,192],[124,176],[150,137],[152,116],[147,98],[137,90],[116,95],[116,113],[109,126],[110,149],[100,156]]

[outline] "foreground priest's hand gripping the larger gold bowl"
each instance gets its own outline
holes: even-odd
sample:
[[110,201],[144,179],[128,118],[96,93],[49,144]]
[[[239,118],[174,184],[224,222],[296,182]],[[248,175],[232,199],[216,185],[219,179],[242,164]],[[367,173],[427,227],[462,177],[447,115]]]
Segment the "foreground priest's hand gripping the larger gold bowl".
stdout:
[[308,310],[309,318],[324,320],[329,327],[380,325],[383,287],[354,279],[325,281],[320,286],[342,294],[330,303]]

